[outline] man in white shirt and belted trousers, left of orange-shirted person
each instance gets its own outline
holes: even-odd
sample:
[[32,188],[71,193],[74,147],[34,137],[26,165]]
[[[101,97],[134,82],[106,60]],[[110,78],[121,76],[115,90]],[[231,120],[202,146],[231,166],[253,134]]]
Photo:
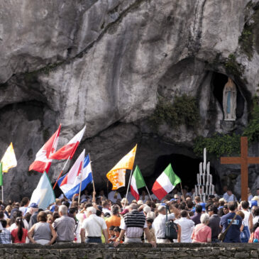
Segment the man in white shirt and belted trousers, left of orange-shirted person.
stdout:
[[100,216],[97,216],[97,209],[93,206],[87,208],[87,219],[84,219],[81,227],[82,243],[101,243],[101,233],[104,233],[105,243],[108,243],[107,226]]

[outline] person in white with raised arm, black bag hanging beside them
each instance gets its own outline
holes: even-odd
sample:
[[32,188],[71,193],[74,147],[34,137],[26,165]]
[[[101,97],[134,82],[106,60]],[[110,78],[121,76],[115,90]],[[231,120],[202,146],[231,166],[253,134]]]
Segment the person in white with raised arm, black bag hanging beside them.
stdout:
[[[173,208],[174,212],[167,214],[167,219],[170,221],[175,219],[175,212],[177,209]],[[165,220],[166,220],[166,209],[165,206],[159,205],[158,206],[158,216],[155,218],[153,222],[153,228],[155,229],[155,237],[157,243],[170,243],[170,240],[165,238]]]

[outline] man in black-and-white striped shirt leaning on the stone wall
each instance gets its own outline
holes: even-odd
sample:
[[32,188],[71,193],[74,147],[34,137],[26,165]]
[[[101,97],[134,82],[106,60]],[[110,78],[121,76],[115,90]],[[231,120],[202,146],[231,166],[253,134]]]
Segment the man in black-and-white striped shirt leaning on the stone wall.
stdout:
[[125,234],[124,243],[141,243],[141,236],[143,231],[148,239],[148,242],[152,244],[153,247],[156,246],[154,241],[151,241],[150,234],[148,231],[148,226],[145,222],[145,215],[138,211],[138,205],[133,203],[129,206],[129,212],[121,220],[121,233],[119,238],[116,239],[114,246],[118,246],[121,239]]

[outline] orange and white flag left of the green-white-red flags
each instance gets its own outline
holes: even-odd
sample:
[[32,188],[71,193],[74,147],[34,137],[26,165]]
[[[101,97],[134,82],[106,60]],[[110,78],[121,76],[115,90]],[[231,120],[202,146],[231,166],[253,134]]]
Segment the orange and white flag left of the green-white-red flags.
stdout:
[[125,186],[126,169],[132,170],[135,160],[137,145],[125,155],[117,164],[107,173],[106,177],[112,183],[112,189],[119,189]]

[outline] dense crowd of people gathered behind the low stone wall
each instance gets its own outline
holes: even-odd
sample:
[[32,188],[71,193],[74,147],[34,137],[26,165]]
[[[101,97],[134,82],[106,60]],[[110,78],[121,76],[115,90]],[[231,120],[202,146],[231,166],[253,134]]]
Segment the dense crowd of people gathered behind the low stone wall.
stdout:
[[[48,209],[39,209],[28,197],[21,202],[0,204],[0,243],[258,243],[259,189],[248,189],[248,201],[238,202],[231,190],[202,202],[187,188],[177,188],[162,201],[143,191],[136,201],[131,193],[121,198],[111,191],[78,194],[72,200],[56,199]],[[175,239],[165,234],[172,221]]]

